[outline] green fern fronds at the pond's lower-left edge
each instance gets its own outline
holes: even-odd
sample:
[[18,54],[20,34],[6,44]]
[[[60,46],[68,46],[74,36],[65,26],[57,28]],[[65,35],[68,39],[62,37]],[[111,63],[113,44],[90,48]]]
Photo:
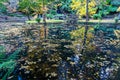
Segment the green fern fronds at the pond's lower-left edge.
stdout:
[[[22,48],[17,49],[13,54],[11,54],[10,56],[5,58],[5,53],[0,55],[0,70],[2,70],[2,72],[0,72],[0,78],[2,78],[2,80],[6,80],[10,74],[14,71],[14,68],[16,66],[16,59],[18,58],[18,54],[20,53]],[[4,59],[3,59],[4,58]],[[5,72],[5,73],[3,73]]]

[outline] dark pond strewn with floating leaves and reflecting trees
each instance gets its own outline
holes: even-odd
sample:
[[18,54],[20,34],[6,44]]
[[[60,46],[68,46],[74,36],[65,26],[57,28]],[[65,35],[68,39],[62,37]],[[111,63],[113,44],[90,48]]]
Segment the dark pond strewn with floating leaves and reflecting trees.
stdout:
[[25,24],[0,30],[2,80],[114,80],[119,26]]

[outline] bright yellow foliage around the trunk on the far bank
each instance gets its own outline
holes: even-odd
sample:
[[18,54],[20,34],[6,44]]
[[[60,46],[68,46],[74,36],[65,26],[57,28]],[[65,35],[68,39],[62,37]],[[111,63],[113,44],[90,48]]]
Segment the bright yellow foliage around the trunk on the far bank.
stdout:
[[[96,13],[96,2],[95,0],[91,0],[88,3],[89,15],[93,15]],[[79,17],[83,17],[86,15],[86,0],[72,0],[71,8],[77,11],[77,15]]]

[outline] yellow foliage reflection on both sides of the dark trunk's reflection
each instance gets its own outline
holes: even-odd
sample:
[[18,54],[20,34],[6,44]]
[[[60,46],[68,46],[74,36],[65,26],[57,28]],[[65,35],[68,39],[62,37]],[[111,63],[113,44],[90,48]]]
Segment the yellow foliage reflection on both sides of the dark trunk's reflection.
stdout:
[[[93,28],[89,28],[88,34],[87,34],[86,51],[89,51],[89,52],[95,50],[95,46],[92,43],[93,37],[94,37],[92,31],[93,31]],[[70,33],[71,38],[75,39],[75,41],[73,42],[73,45],[76,46],[76,47],[79,47],[79,51],[82,48],[81,44],[83,43],[84,32],[85,32],[85,27],[81,27],[80,29],[74,30]]]

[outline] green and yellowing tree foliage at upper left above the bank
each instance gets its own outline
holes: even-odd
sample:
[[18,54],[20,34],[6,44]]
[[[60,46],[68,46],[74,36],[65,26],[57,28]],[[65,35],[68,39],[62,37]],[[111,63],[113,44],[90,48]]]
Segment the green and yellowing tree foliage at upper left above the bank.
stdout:
[[21,0],[19,3],[19,10],[25,13],[30,20],[31,15],[43,14],[47,11],[47,5],[54,0]]

